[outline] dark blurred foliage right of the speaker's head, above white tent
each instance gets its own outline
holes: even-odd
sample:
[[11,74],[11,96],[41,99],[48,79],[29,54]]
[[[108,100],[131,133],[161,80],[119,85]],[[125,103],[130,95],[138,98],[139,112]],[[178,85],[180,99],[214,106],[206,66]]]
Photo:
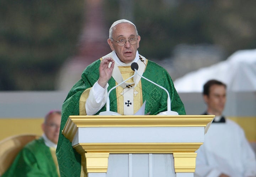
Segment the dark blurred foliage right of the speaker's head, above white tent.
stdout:
[[140,53],[162,59],[181,43],[213,44],[227,55],[256,47],[256,1],[140,0],[134,19]]

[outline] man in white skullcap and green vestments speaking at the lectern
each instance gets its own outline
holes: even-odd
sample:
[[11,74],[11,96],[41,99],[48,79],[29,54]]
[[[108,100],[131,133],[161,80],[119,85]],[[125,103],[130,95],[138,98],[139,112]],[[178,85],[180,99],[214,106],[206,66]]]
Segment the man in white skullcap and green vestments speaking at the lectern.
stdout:
[[[81,79],[71,88],[62,107],[62,122],[56,150],[61,176],[83,176],[81,156],[62,135],[70,115],[98,115],[106,111],[108,91],[134,74],[131,63],[139,66],[138,73],[166,88],[171,98],[171,110],[185,115],[169,73],[160,65],[139,55],[140,36],[135,25],[119,20],[110,28],[108,44],[112,52],[86,67]],[[146,101],[145,113],[156,115],[167,110],[167,93],[160,87],[135,75],[110,92],[110,111],[133,115]],[[85,135],[86,136],[86,135]]]

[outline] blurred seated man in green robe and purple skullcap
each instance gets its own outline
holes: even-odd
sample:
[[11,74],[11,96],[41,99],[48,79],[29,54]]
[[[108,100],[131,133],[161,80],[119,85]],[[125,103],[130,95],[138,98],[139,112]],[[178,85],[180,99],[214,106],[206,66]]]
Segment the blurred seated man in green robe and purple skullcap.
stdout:
[[2,177],[59,177],[55,155],[59,138],[61,112],[50,111],[42,124],[43,135],[25,145]]

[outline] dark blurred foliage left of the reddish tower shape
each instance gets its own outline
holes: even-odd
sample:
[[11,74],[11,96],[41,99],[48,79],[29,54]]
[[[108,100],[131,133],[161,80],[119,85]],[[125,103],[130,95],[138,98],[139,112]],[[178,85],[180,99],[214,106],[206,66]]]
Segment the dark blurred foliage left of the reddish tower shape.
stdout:
[[83,0],[1,0],[0,90],[53,90],[83,10]]

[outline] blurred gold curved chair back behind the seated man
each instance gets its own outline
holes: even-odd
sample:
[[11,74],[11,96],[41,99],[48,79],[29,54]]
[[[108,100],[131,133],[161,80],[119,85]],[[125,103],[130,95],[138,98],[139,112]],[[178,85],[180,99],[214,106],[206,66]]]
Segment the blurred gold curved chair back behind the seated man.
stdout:
[[7,137],[0,141],[0,176],[9,168],[22,148],[28,142],[39,137],[34,134],[22,134]]

